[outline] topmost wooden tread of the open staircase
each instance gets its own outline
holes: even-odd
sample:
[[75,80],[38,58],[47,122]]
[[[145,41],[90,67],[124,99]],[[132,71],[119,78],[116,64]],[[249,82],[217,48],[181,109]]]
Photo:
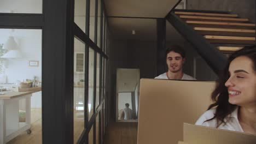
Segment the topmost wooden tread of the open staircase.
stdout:
[[237,17],[235,14],[217,14],[217,13],[198,13],[198,12],[186,12],[186,11],[174,11],[179,15],[203,15],[203,16],[222,16],[222,17]]

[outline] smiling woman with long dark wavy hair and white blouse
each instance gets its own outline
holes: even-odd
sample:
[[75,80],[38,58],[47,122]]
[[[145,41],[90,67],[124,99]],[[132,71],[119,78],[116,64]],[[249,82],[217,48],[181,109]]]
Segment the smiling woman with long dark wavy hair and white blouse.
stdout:
[[[212,93],[214,104],[197,125],[256,135],[256,46],[246,46],[229,57]],[[213,107],[216,108],[212,109]]]

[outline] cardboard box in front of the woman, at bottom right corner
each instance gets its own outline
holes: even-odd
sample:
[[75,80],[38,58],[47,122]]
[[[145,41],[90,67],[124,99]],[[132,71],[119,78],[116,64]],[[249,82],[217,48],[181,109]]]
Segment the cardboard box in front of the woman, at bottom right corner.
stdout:
[[184,123],[184,142],[189,144],[255,144],[256,136],[237,131]]

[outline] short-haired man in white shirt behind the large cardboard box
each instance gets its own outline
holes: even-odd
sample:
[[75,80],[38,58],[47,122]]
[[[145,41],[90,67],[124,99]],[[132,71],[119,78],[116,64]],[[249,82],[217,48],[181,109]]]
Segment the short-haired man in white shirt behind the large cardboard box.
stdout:
[[173,45],[166,50],[166,64],[168,71],[156,76],[155,79],[172,79],[172,80],[196,80],[194,77],[184,74],[182,71],[185,63],[185,51]]

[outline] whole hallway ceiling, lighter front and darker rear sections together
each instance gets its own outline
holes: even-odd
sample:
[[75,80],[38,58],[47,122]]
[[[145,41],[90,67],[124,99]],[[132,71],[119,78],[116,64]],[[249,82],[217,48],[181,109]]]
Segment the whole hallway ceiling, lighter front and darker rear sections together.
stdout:
[[[114,39],[156,40],[156,19],[137,19],[126,17],[164,18],[179,0],[105,0],[109,29]],[[109,17],[110,16],[110,17]],[[119,16],[119,17],[111,17]],[[135,30],[136,34],[132,34]],[[167,22],[166,36],[177,35]],[[178,34],[179,35],[179,34]]]

